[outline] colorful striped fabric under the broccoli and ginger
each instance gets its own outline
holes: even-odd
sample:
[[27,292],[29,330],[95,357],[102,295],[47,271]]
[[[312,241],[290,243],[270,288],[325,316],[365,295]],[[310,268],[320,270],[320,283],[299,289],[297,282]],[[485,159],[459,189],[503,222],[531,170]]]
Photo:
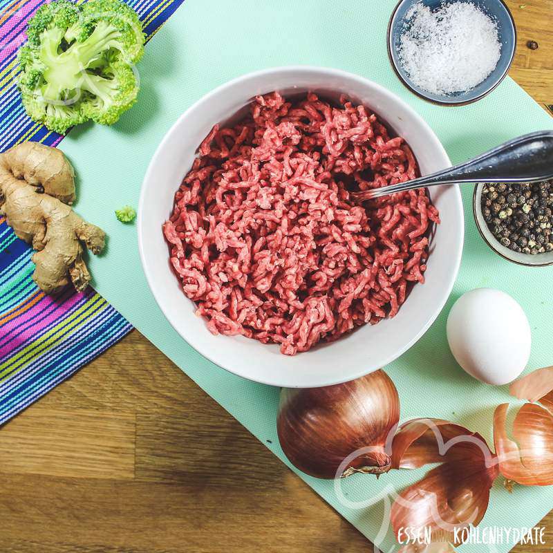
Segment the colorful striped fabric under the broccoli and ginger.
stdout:
[[[44,0],[0,0],[0,151],[63,136],[31,121],[15,85],[27,20]],[[150,39],[183,0],[126,0]],[[132,328],[92,288],[48,297],[31,279],[32,250],[0,218],[0,424],[63,382]]]

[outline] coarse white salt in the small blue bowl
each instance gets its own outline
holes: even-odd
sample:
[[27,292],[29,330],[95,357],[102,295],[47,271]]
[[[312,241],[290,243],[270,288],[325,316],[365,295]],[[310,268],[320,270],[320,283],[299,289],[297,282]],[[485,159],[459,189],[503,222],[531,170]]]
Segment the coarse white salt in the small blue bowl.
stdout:
[[494,71],[501,43],[496,22],[474,3],[431,10],[418,2],[406,14],[398,53],[413,84],[447,95],[471,90]]

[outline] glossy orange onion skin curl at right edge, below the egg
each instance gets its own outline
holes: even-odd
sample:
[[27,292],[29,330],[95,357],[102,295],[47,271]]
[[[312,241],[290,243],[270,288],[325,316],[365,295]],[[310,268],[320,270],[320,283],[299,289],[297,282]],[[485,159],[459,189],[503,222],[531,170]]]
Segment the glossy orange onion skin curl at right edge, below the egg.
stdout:
[[[553,406],[553,397],[543,397],[545,407]],[[516,413],[512,435],[507,436],[509,404],[494,413],[494,443],[500,473],[525,486],[553,485],[553,414],[540,405],[527,403]]]

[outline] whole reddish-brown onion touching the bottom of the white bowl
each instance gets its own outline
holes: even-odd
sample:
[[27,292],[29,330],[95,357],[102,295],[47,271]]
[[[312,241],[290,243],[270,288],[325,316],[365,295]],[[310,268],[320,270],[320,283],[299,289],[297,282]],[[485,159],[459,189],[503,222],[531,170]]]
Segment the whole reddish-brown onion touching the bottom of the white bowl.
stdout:
[[[277,419],[288,460],[317,478],[353,472],[382,474],[391,468],[391,443],[400,420],[400,397],[386,373],[322,388],[283,388]],[[339,471],[344,460],[364,448]]]

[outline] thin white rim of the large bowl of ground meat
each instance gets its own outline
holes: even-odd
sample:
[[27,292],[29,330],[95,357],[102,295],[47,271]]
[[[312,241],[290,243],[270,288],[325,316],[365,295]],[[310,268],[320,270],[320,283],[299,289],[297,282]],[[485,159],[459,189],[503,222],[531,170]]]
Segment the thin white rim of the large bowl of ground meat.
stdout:
[[[153,153],[151,160],[149,162],[148,168],[144,174],[144,178],[142,180],[142,185],[140,189],[140,198],[138,201],[138,217],[137,217],[137,233],[138,233],[138,250],[140,254],[140,261],[142,263],[142,270],[144,272],[144,275],[147,279],[147,283],[149,285],[150,291],[156,300],[156,303],[158,304],[158,307],[162,311],[164,317],[169,321],[169,324],[176,330],[178,335],[187,343],[191,348],[194,348],[200,355],[203,355],[206,359],[208,359],[210,362],[215,364],[216,366],[219,366],[225,371],[228,371],[229,373],[233,373],[235,375],[238,375],[240,377],[243,377],[245,379],[252,380],[253,382],[259,382],[260,384],[268,384],[270,386],[279,386],[279,387],[286,387],[286,388],[310,388],[310,387],[320,387],[320,386],[330,386],[333,384],[341,384],[343,382],[349,382],[351,380],[357,379],[359,377],[362,377],[364,375],[367,375],[368,373],[371,373],[371,370],[367,370],[365,368],[358,368],[357,371],[352,371],[344,376],[344,373],[338,373],[330,378],[321,379],[315,383],[310,384],[298,384],[297,382],[291,382],[289,379],[286,379],[283,373],[283,377],[279,379],[278,382],[264,378],[263,375],[256,376],[255,378],[251,375],[245,374],[243,371],[240,371],[236,368],[229,368],[227,366],[221,365],[220,361],[217,361],[214,359],[212,352],[210,350],[207,350],[206,348],[198,346],[198,344],[194,343],[194,340],[192,340],[190,337],[185,337],[184,332],[181,328],[181,325],[178,324],[177,321],[174,321],[173,317],[167,314],[164,306],[164,301],[161,298],[160,289],[156,287],[155,284],[155,278],[153,273],[151,272],[149,262],[147,261],[147,254],[144,247],[144,240],[143,240],[143,227],[144,227],[144,216],[142,215],[144,213],[144,206],[146,203],[146,189],[147,189],[147,183],[152,180],[153,177],[153,171],[154,167],[156,165],[156,160],[158,156],[161,155],[161,152],[170,140],[172,140],[172,135],[178,129],[180,124],[182,124],[182,120],[185,120],[189,113],[192,111],[198,109],[198,106],[201,106],[205,102],[210,102],[212,98],[220,93],[223,93],[227,88],[230,88],[232,86],[235,86],[239,82],[242,82],[243,80],[247,79],[255,79],[257,77],[262,77],[264,75],[278,75],[281,72],[301,72],[301,73],[327,73],[329,76],[332,75],[334,77],[344,77],[347,79],[353,79],[359,82],[360,84],[363,84],[364,86],[371,86],[372,88],[375,88],[379,91],[379,93],[382,93],[384,96],[391,97],[393,101],[400,102],[404,109],[406,111],[409,111],[411,113],[411,116],[413,119],[420,125],[422,128],[424,128],[427,132],[431,133],[433,137],[435,138],[435,147],[437,149],[437,153],[439,153],[444,160],[449,163],[449,166],[451,166],[451,160],[449,159],[449,156],[447,154],[447,151],[444,149],[444,146],[442,142],[440,142],[438,136],[435,134],[431,126],[411,107],[407,102],[402,100],[401,97],[396,95],[395,93],[388,90],[388,88],[385,88],[381,84],[378,84],[377,82],[372,81],[371,79],[366,79],[366,77],[362,77],[361,75],[357,75],[355,73],[350,73],[348,71],[342,71],[341,69],[335,69],[335,68],[329,68],[324,66],[310,66],[310,65],[290,65],[290,66],[277,66],[272,68],[265,68],[261,69],[259,71],[252,71],[250,73],[245,73],[243,75],[239,75],[238,77],[235,77],[234,79],[231,79],[227,82],[224,82],[223,84],[217,86],[216,88],[212,89],[212,91],[209,91],[205,95],[202,95],[201,97],[196,100],[193,104],[191,104],[179,117],[176,119],[176,121],[167,129],[165,132],[165,135],[163,136],[162,140],[158,144],[158,147],[156,148],[156,151]],[[275,88],[278,88],[276,86]],[[384,117],[385,119],[385,117]],[[438,301],[436,302],[436,308],[431,313],[429,313],[429,316],[427,317],[427,320],[425,323],[420,326],[417,332],[413,335],[412,339],[407,341],[402,348],[395,350],[393,353],[388,355],[382,363],[380,363],[380,367],[375,367],[373,370],[377,370],[377,368],[382,368],[391,362],[395,361],[395,359],[398,359],[401,355],[403,355],[411,346],[416,344],[420,338],[424,335],[425,332],[430,328],[430,326],[435,322],[435,320],[438,318],[440,313],[442,312],[445,304],[447,303],[447,299],[449,298],[451,294],[451,290],[453,289],[453,285],[456,282],[456,279],[458,277],[461,258],[462,258],[462,251],[464,246],[464,238],[465,238],[465,221],[463,217],[463,204],[462,204],[462,196],[460,193],[460,189],[458,185],[453,185],[455,188],[456,194],[453,196],[454,202],[456,204],[456,209],[458,212],[460,212],[460,217],[458,221],[458,229],[457,229],[457,238],[456,243],[458,243],[458,247],[456,248],[456,257],[453,259],[451,272],[449,273],[449,279],[447,283],[444,285],[444,288],[442,288],[442,292],[440,293],[440,296],[438,297]],[[144,235],[145,238],[145,235]]]

